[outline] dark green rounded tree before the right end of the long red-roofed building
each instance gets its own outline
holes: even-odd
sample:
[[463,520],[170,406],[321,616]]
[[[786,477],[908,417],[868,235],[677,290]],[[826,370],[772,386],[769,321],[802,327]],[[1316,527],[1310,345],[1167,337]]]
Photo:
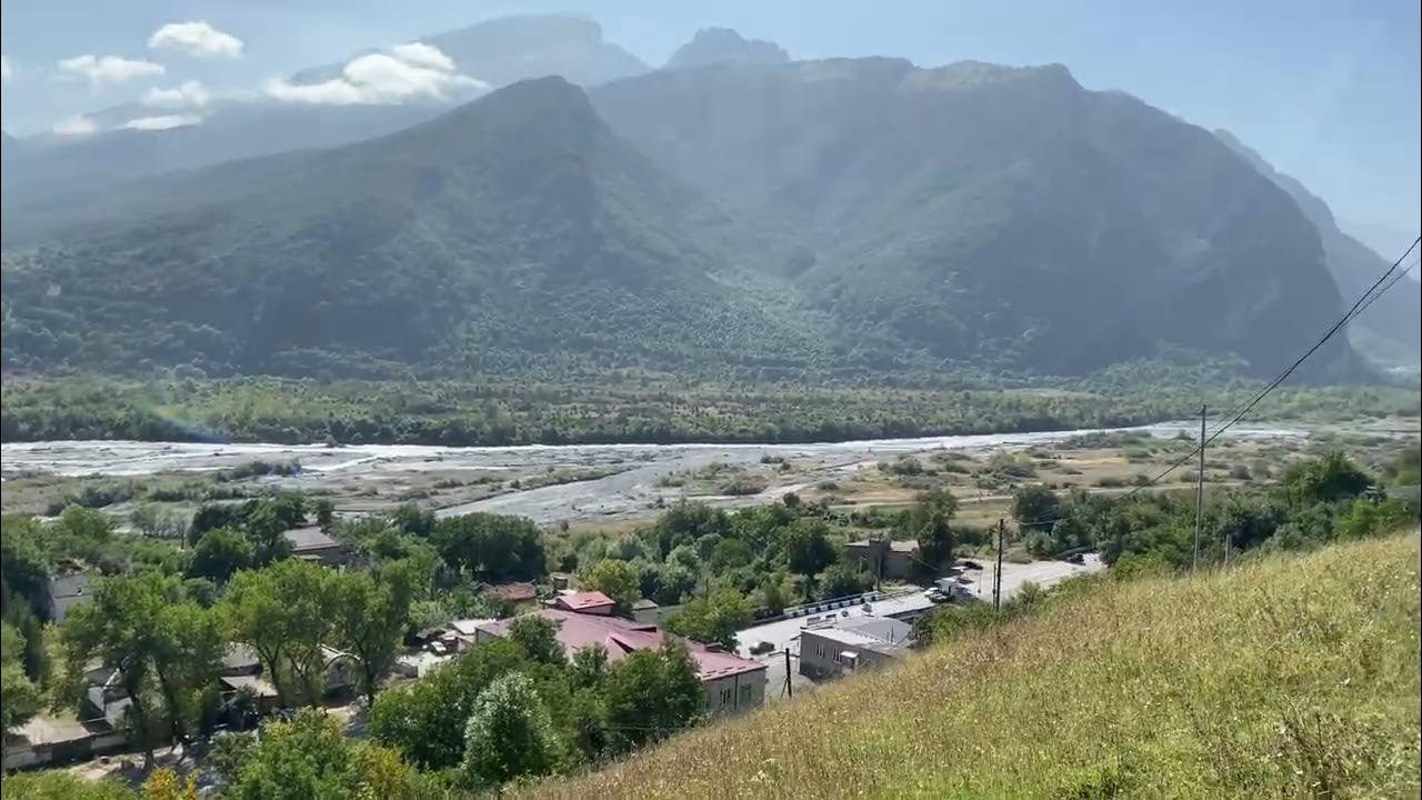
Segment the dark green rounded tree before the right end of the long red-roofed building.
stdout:
[[690,727],[705,710],[695,660],[670,636],[656,652],[637,651],[614,663],[604,686],[613,744],[623,752]]

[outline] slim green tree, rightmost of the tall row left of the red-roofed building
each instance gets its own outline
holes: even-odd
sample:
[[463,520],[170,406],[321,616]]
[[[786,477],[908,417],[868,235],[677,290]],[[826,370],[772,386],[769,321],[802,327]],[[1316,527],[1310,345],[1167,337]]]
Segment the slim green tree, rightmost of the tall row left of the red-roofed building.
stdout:
[[360,665],[360,690],[371,703],[375,690],[395,665],[410,621],[412,572],[402,562],[387,564],[377,574],[344,572],[331,577],[336,638]]

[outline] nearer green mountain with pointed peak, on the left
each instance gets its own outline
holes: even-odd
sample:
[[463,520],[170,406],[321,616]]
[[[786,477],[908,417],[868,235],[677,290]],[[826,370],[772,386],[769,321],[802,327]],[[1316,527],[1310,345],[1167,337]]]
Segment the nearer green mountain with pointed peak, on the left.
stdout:
[[754,366],[816,343],[714,278],[715,209],[562,78],[383,140],[137,185],[4,265],[11,367]]

